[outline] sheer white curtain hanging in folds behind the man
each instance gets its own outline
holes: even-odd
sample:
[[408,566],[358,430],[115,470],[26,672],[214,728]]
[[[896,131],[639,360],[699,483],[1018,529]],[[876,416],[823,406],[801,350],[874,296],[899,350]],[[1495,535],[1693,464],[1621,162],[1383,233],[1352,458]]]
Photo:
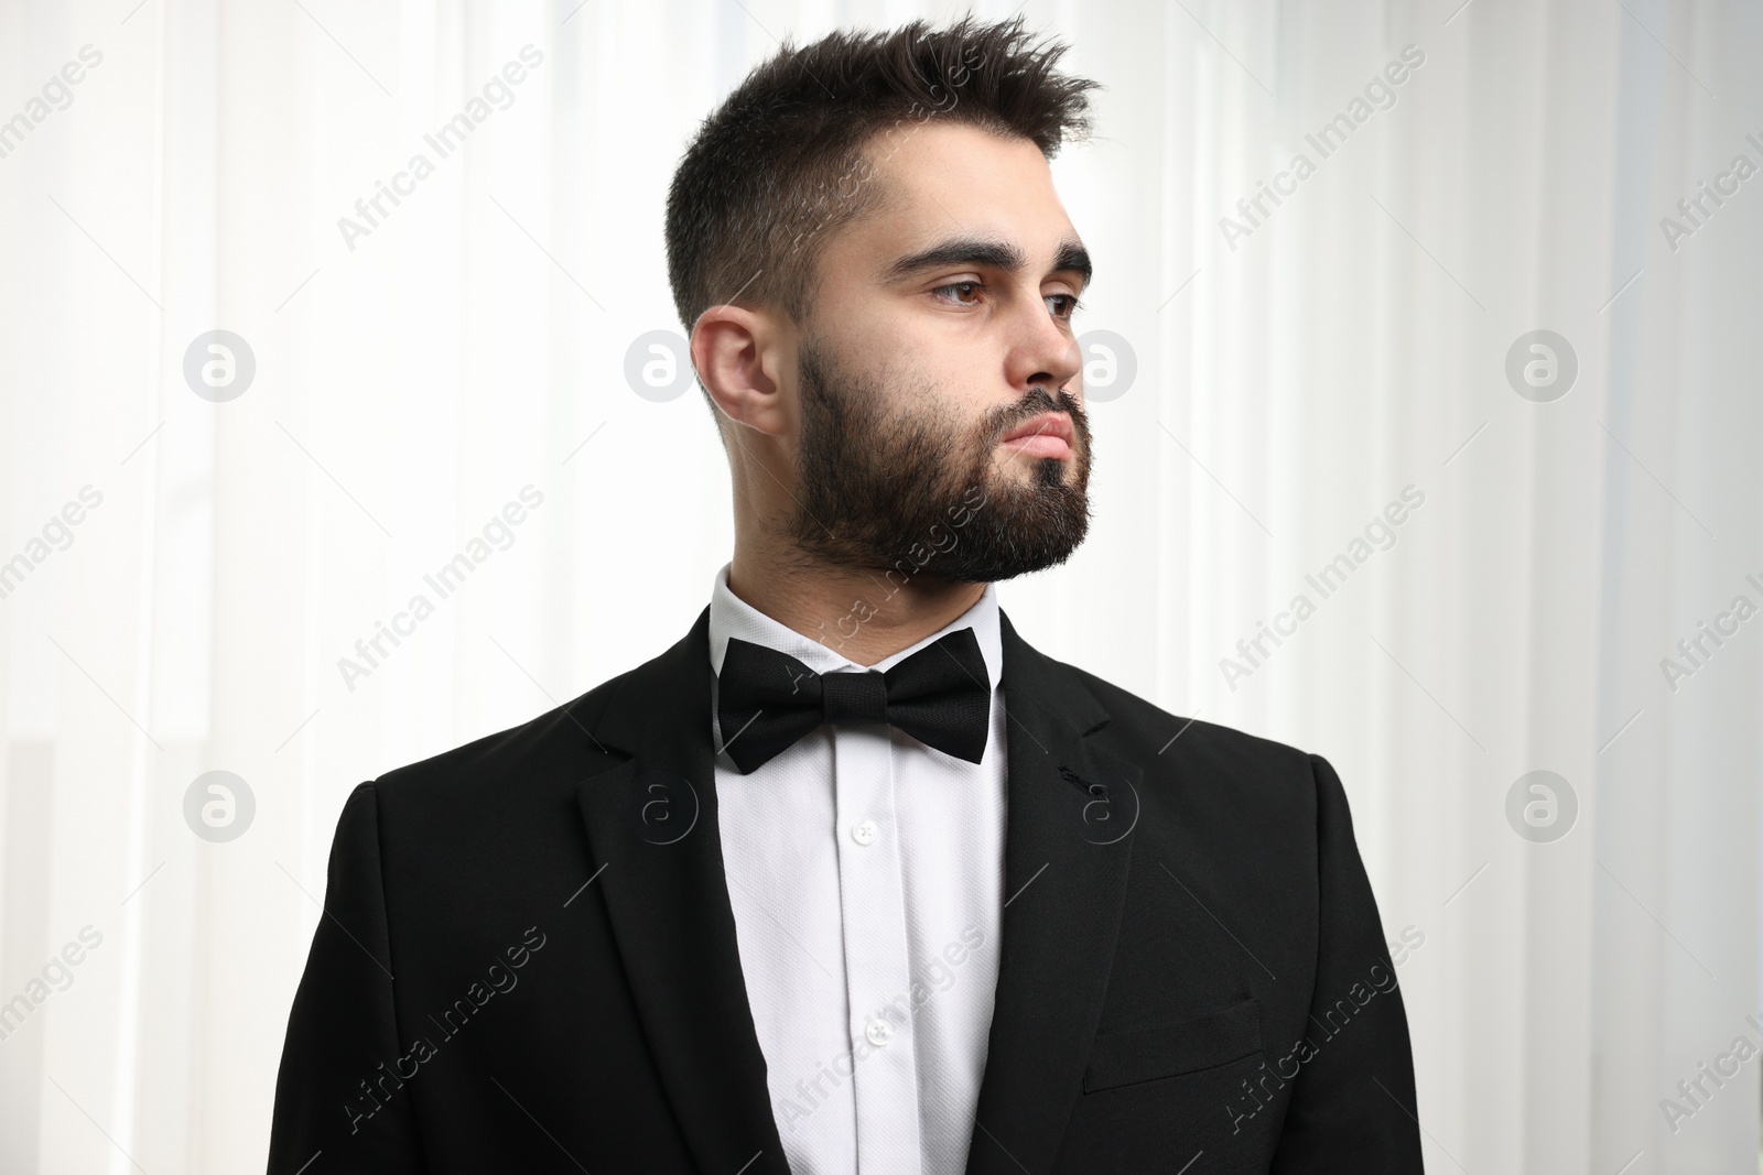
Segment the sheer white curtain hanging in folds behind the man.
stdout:
[[[0,5],[0,1168],[263,1164],[349,789],[728,557],[645,340],[684,139],[776,39],[956,11]],[[1091,539],[1005,608],[1335,763],[1432,1170],[1749,1168],[1763,14],[1023,14],[1107,86],[1056,162],[1107,335]]]

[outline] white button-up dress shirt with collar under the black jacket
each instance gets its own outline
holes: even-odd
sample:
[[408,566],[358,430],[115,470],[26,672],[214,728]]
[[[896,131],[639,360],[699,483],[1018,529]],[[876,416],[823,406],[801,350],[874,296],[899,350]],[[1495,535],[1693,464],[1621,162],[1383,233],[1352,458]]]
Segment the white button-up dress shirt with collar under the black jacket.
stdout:
[[[993,682],[980,763],[880,724],[822,726],[751,775],[716,757],[740,971],[793,1175],[966,1166],[1003,890],[996,590],[987,585],[961,618],[869,669],[964,627]],[[725,565],[710,595],[718,673],[732,636],[816,673],[866,671],[737,599]]]

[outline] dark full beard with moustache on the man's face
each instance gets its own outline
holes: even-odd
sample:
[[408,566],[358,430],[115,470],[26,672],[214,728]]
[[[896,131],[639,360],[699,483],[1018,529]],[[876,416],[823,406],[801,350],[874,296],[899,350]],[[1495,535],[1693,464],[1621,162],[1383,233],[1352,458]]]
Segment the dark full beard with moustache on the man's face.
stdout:
[[[908,578],[996,583],[1063,564],[1084,541],[1090,423],[1065,389],[1033,386],[1015,403],[964,421],[933,388],[903,396],[883,379],[841,370],[811,342],[800,382],[800,488],[788,532],[804,555]],[[1003,435],[1042,412],[1072,418],[1070,458],[1001,454]],[[1028,463],[1028,477],[1012,469],[1017,462]]]

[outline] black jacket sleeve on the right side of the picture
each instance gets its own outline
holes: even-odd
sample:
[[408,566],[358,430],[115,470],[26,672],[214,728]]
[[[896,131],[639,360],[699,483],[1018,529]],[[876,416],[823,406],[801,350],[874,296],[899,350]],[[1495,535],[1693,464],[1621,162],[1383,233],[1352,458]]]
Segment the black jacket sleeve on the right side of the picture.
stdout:
[[1421,1171],[1414,1055],[1352,816],[1328,759],[1317,786],[1319,934],[1310,1025],[1273,1175]]

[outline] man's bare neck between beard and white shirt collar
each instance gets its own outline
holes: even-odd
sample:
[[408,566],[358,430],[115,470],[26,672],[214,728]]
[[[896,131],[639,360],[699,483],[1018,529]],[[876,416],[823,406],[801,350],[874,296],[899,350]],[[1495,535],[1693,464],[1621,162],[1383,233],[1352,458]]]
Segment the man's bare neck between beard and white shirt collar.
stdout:
[[978,602],[984,583],[880,571],[769,562],[735,546],[728,590],[777,624],[846,661],[873,666],[947,627]]

